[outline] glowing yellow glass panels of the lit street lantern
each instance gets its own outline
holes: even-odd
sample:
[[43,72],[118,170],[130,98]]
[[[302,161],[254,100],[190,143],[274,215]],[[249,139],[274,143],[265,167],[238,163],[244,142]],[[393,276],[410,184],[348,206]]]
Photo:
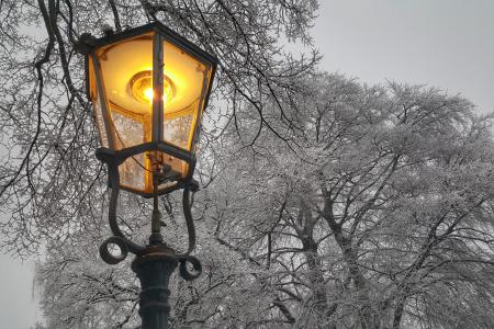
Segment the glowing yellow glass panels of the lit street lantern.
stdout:
[[[90,92],[94,102],[97,121],[101,132],[106,132],[104,146],[124,149],[143,143],[149,143],[160,132],[160,140],[169,143],[184,151],[194,152],[194,133],[201,122],[204,110],[204,97],[210,89],[212,67],[165,38],[161,63],[157,63],[155,30],[96,48],[94,57],[89,57]],[[162,69],[162,90],[154,90],[153,70],[157,65]],[[103,90],[96,84],[96,68],[99,66]],[[156,82],[156,81],[155,81]],[[156,91],[156,93],[154,92]],[[157,94],[162,97],[158,101]],[[103,98],[106,106],[99,106]],[[153,106],[153,100],[157,106]],[[103,110],[108,110],[108,114]],[[155,125],[154,118],[159,111],[162,123]],[[162,133],[162,134],[161,134]],[[103,138],[103,136],[102,136]],[[161,139],[162,138],[162,139]],[[113,139],[113,143],[111,139]],[[148,154],[159,154],[159,164],[168,164],[171,171],[188,177],[191,168],[187,161],[171,157],[166,152],[148,150],[127,159],[119,167],[121,185],[145,193],[153,193],[153,171],[155,163]],[[168,185],[166,185],[168,184]],[[170,181],[159,189],[170,186]]]

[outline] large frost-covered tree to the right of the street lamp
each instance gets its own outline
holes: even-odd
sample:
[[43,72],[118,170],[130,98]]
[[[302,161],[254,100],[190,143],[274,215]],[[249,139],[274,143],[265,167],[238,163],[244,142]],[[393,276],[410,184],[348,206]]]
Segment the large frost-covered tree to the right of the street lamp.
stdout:
[[490,117],[424,87],[307,84],[291,146],[237,138],[207,191],[214,237],[251,264],[270,316],[299,328],[492,327]]

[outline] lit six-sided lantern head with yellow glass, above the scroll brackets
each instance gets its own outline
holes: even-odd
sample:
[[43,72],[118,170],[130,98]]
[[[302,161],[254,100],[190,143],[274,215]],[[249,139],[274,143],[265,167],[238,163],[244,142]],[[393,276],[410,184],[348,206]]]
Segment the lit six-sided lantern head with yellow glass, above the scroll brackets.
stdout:
[[116,161],[120,188],[149,197],[189,183],[216,58],[160,23],[87,44],[97,156]]

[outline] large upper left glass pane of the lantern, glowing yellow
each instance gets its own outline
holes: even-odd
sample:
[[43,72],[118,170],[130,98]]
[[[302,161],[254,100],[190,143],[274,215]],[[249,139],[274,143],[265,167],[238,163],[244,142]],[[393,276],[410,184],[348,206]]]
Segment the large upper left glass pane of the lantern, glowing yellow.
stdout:
[[99,48],[97,56],[110,111],[113,148],[150,141],[153,35],[110,44]]

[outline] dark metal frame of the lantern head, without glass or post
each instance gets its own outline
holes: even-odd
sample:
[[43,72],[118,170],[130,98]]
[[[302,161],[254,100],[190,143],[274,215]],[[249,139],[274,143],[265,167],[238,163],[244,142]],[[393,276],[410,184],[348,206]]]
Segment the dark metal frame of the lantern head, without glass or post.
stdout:
[[[116,149],[116,140],[115,134],[113,133],[114,127],[112,127],[112,117],[110,114],[110,104],[109,98],[106,95],[103,81],[104,77],[102,77],[101,68],[99,65],[99,58],[96,54],[96,49],[105,47],[112,44],[117,44],[119,42],[124,42],[126,39],[132,39],[135,37],[139,37],[146,34],[153,35],[153,90],[155,97],[153,98],[153,116],[151,116],[151,140],[148,143],[143,143],[139,145],[125,147],[122,149]],[[162,101],[162,91],[164,91],[164,42],[169,42],[173,46],[180,48],[187,55],[194,57],[198,61],[205,65],[207,69],[211,70],[210,76],[205,75],[203,78],[201,99],[198,105],[197,111],[197,120],[194,121],[195,126],[192,132],[192,141],[190,145],[190,150],[186,150],[170,141],[165,140],[164,138],[164,122],[165,122],[165,113],[164,113],[164,101]],[[81,42],[79,42],[79,50],[87,55],[86,57],[86,75],[90,76],[90,65],[92,63],[92,68],[94,71],[96,78],[96,87],[98,90],[98,101],[100,102],[100,107],[102,112],[102,117],[104,121],[104,134],[108,138],[109,147],[101,147],[97,150],[97,157],[103,162],[112,162],[119,167],[128,158],[132,158],[139,154],[157,151],[165,155],[172,156],[177,159],[184,161],[188,166],[188,172],[184,177],[175,178],[172,184],[169,186],[159,189],[158,194],[166,194],[175,190],[183,189],[187,185],[190,185],[192,180],[192,175],[195,169],[195,155],[194,148],[199,139],[199,133],[202,123],[202,112],[207,106],[207,102],[211,93],[211,82],[214,79],[217,66],[217,59],[202,50],[178,33],[168,29],[164,24],[159,22],[154,22],[147,25],[143,25],[136,29],[127,30],[122,33],[111,34],[104,36],[102,38],[94,38],[90,35],[82,35]],[[87,94],[88,98],[91,99],[90,93],[90,81],[87,79]],[[103,132],[100,132],[100,137],[103,135]],[[114,168],[114,166],[111,166]],[[115,180],[112,180],[111,177],[113,174],[119,174],[114,172],[110,172],[109,185],[110,188],[114,188],[113,183]],[[156,191],[153,192],[143,192],[130,186],[121,185],[123,190],[127,190],[132,193],[139,194],[144,197],[153,197]]]

